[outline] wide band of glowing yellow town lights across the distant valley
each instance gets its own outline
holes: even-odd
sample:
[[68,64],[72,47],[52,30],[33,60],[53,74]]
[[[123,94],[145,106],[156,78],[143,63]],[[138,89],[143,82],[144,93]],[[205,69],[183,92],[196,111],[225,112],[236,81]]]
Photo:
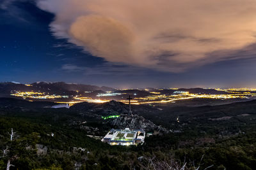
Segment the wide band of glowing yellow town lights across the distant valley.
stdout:
[[[11,96],[22,97],[29,101],[53,101],[54,103],[67,103],[70,106],[76,103],[88,102],[88,103],[105,103],[111,100],[120,101],[128,104],[126,100],[127,92],[125,90],[133,89],[120,89],[118,92],[106,92],[91,95],[92,92],[77,92],[76,96],[49,94],[46,92],[21,92],[12,90]],[[220,92],[220,94],[204,94],[204,93],[190,93],[188,91],[181,91],[178,89],[172,93],[164,94],[166,89],[157,89],[156,91],[149,91],[148,89],[140,89],[141,92],[148,92],[146,96],[140,96],[138,94],[131,94],[133,99],[131,104],[151,104],[151,103],[175,103],[176,101],[188,100],[188,99],[250,99],[256,97],[256,89],[212,89]],[[124,91],[124,92],[122,92]],[[223,92],[223,93],[221,93]]]

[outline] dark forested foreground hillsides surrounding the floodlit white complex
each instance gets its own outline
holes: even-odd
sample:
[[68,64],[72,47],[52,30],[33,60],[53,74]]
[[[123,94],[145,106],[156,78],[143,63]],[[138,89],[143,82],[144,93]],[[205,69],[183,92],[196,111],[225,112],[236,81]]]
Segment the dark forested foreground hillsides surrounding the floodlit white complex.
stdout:
[[[256,101],[199,107],[132,105],[134,115],[127,115],[127,104],[116,101],[45,108],[51,104],[0,98],[0,148],[12,146],[15,168],[148,169],[145,165],[182,166],[184,161],[185,169],[199,164],[212,170],[256,165]],[[102,118],[112,114],[120,117]],[[129,126],[153,127],[154,135],[136,147],[97,140],[111,128]],[[10,143],[12,128],[16,136]],[[8,157],[0,158],[1,169]]]

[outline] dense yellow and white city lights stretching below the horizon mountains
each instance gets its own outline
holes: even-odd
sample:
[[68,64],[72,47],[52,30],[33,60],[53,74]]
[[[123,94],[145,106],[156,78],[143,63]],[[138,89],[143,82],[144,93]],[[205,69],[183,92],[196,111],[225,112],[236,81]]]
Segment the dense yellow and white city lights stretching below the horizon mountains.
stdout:
[[[144,89],[148,90],[148,89]],[[161,90],[161,89],[158,89]],[[163,89],[162,89],[163,90]],[[174,90],[174,89],[173,89]],[[175,89],[177,90],[177,89]],[[186,91],[175,91],[173,94],[161,94],[161,92],[150,92],[150,96],[145,97],[134,97],[131,100],[131,104],[150,104],[150,103],[175,103],[175,101],[194,99],[194,98],[205,98],[205,99],[246,99],[249,97],[256,97],[256,89],[215,89],[218,91],[226,92],[226,94],[192,94]],[[228,92],[228,93],[227,93]],[[125,93],[115,93],[115,92],[106,92],[106,94],[97,94],[95,97],[83,97],[81,94],[79,96],[60,96],[55,94],[46,94],[45,92],[20,92],[13,90],[11,92],[12,96],[23,97],[24,99],[60,99],[60,98],[70,98],[72,101],[57,101],[56,103],[68,103],[73,105],[81,102],[88,103],[106,103],[111,99],[100,99],[100,97],[109,97],[109,96],[120,96],[125,95]],[[136,96],[136,94],[134,94]],[[124,99],[119,99],[118,101],[128,104],[129,101]]]

